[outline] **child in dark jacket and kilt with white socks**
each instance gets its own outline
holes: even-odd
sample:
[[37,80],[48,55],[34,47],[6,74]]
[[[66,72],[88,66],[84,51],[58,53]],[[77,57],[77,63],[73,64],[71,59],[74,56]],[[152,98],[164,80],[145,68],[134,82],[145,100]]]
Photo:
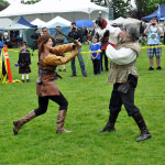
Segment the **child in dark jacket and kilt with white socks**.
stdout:
[[22,42],[20,44],[21,51],[19,53],[19,74],[22,74],[21,81],[24,82],[24,75],[26,74],[26,81],[30,82],[29,74],[31,73],[31,54],[30,51],[26,50],[26,43]]

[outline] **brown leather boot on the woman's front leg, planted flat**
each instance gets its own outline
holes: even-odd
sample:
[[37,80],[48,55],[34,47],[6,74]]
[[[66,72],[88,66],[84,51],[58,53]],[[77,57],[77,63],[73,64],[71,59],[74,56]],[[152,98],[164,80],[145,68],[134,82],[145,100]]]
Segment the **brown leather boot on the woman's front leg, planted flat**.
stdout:
[[57,117],[57,131],[56,133],[72,133],[73,131],[67,131],[64,129],[64,121],[66,117],[66,110],[59,110]]

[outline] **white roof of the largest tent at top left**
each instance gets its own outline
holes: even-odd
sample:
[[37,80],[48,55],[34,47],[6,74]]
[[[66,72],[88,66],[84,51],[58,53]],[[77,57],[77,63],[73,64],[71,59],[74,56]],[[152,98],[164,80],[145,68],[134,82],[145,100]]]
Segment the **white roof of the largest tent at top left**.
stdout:
[[91,13],[95,10],[105,11],[107,13],[109,12],[108,8],[97,6],[90,2],[90,0],[41,0],[34,4],[22,4],[21,0],[15,0],[7,9],[0,12],[0,18],[76,11]]

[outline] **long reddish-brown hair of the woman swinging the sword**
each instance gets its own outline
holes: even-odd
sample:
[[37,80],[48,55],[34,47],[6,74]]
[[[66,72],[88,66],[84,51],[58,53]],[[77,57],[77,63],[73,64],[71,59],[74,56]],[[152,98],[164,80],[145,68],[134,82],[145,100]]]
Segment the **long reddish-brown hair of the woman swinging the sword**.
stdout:
[[37,40],[37,45],[38,45],[38,59],[41,56],[41,53],[44,52],[44,44],[46,44],[48,42],[48,40],[53,37],[51,35],[41,35]]

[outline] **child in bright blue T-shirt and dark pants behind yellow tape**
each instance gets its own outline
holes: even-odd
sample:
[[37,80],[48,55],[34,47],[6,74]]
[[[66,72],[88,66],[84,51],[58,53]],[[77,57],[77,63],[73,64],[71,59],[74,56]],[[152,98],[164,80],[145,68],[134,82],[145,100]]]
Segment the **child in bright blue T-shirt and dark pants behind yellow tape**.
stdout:
[[[98,38],[95,37],[92,41],[92,44],[89,47],[89,52],[94,51],[100,51],[100,45],[97,43]],[[100,75],[101,74],[101,62],[100,62],[100,53],[90,53],[91,54],[91,61],[94,64],[94,74],[95,75]]]

